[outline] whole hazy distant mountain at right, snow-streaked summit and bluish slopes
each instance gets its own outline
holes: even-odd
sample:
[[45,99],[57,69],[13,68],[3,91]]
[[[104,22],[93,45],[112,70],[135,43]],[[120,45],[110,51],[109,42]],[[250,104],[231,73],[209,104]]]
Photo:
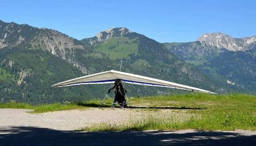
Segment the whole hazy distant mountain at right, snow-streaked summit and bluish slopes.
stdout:
[[172,53],[208,77],[255,93],[255,39],[232,38],[219,32],[206,33],[195,42],[164,44]]

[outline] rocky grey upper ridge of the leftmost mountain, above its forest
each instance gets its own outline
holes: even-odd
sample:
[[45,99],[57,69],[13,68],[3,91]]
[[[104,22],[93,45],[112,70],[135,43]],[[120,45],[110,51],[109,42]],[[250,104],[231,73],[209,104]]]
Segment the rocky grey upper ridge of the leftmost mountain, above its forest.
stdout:
[[48,50],[63,59],[67,53],[72,55],[74,49],[87,49],[80,41],[56,30],[0,20],[0,49],[17,46]]

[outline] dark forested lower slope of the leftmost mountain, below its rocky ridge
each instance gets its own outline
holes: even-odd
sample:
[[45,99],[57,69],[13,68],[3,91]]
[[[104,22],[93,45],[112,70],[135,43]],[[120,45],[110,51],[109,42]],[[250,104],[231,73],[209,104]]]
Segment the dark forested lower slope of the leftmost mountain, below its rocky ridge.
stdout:
[[[91,99],[92,86],[52,88],[59,81],[84,74],[69,62],[42,50],[1,50],[1,98],[30,103]],[[3,77],[4,76],[4,77]],[[97,86],[96,86],[97,87]],[[98,87],[99,91],[101,87]]]

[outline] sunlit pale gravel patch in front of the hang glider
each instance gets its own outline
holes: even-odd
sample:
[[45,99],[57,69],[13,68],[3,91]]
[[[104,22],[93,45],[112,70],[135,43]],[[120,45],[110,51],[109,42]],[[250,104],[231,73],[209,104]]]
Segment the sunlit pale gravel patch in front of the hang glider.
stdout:
[[[130,118],[137,119],[147,115],[175,116],[176,120],[190,118],[192,114],[177,110],[134,110],[119,108],[90,108],[86,110],[67,110],[30,114],[26,109],[0,109],[0,127],[37,126],[55,130],[77,130],[97,123],[125,124]],[[161,114],[159,114],[159,112]],[[181,117],[180,119],[178,117]]]

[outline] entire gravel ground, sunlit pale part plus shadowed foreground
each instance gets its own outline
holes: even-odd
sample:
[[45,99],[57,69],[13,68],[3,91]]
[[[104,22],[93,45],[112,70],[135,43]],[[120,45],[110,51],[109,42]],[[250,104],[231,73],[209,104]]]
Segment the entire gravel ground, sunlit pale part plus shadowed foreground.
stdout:
[[[1,146],[109,146],[109,145],[255,145],[256,131],[124,131],[77,132],[74,129],[94,123],[122,123],[129,117],[139,117],[136,110],[101,109],[69,110],[29,114],[32,110],[0,109]],[[144,111],[144,113],[150,113]],[[177,114],[172,110],[159,113]],[[179,112],[180,113],[180,112]],[[183,113],[184,114],[184,113]]]

